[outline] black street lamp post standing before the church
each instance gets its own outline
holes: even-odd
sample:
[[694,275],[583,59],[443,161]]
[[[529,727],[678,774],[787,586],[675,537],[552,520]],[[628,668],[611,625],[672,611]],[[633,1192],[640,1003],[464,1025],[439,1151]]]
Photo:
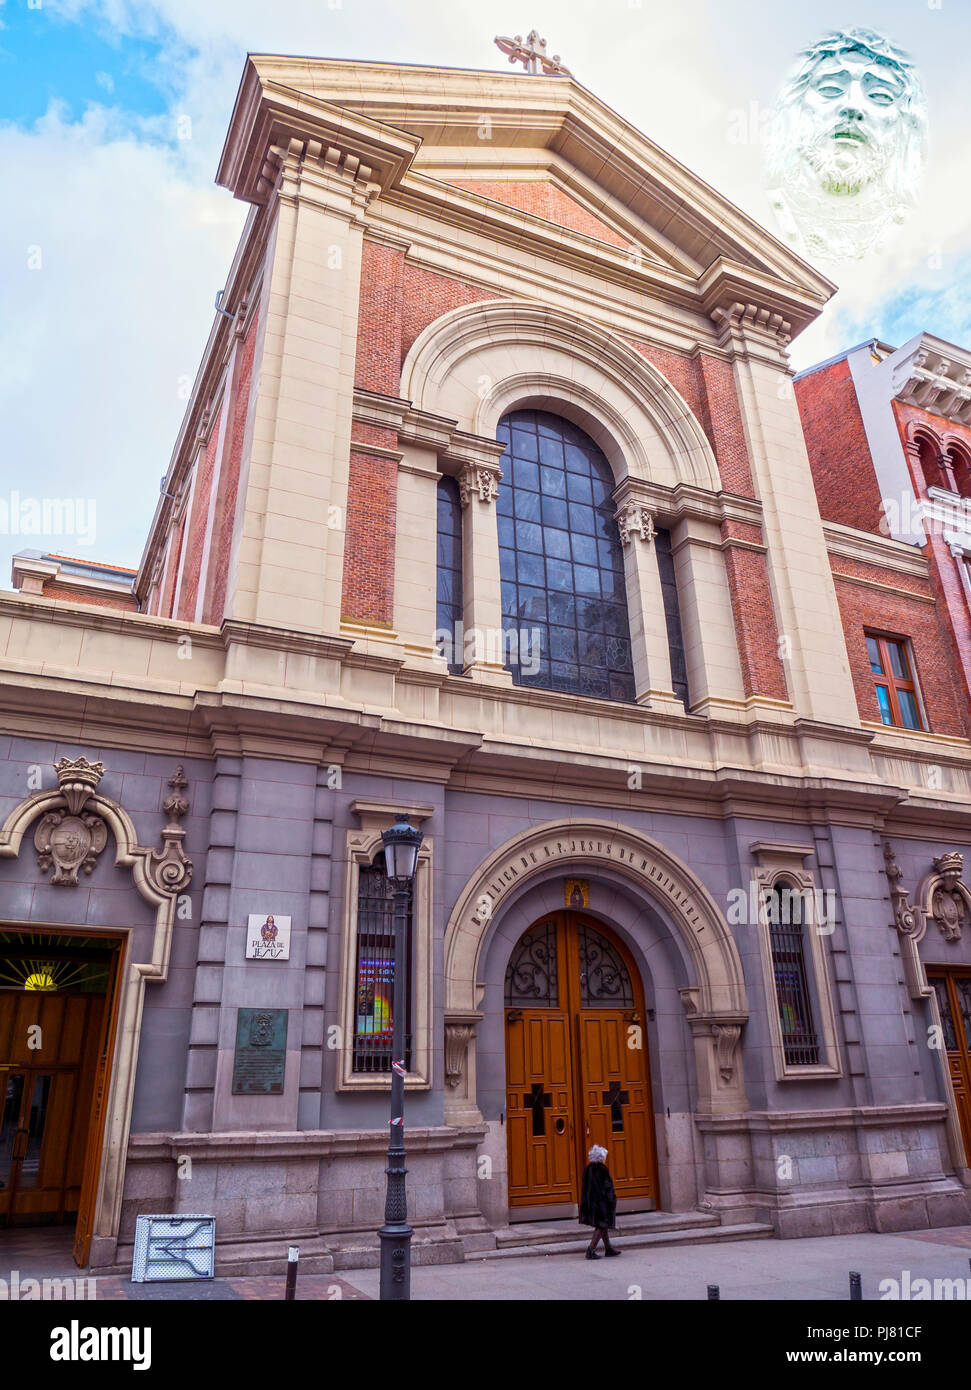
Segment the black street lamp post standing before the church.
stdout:
[[418,865],[424,835],[399,812],[390,830],[383,830],[385,869],[395,897],[395,992],[392,999],[392,1120],[388,1145],[388,1188],[385,1225],[381,1237],[381,1298],[411,1297],[411,1227],[404,1193],[404,1072],[408,988],[408,895]]

